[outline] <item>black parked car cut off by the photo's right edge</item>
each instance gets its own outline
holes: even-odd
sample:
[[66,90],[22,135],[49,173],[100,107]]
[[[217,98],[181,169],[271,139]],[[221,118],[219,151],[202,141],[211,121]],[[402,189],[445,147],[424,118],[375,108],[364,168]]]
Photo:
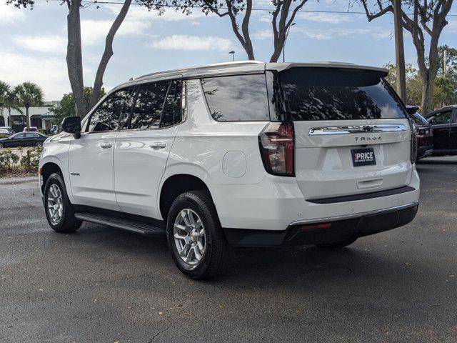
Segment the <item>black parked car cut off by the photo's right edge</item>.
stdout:
[[437,109],[425,117],[433,129],[433,155],[457,154],[457,105]]

